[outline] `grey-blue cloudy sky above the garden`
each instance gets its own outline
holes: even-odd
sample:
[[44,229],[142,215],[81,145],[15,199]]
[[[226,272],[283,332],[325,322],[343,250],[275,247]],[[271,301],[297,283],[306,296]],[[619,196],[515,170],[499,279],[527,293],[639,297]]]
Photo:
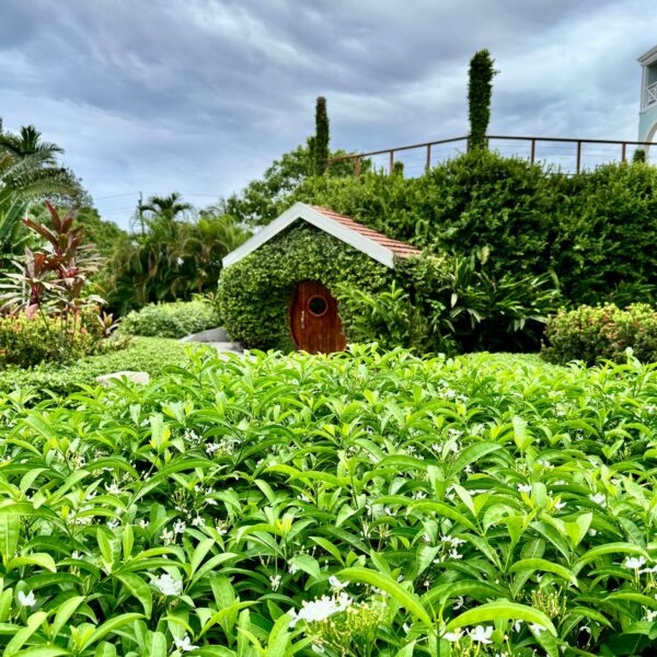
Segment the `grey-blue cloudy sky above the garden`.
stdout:
[[312,132],[320,94],[333,148],[465,134],[484,47],[492,134],[636,139],[655,45],[655,0],[1,0],[0,116],[127,226],[139,191],[240,189]]

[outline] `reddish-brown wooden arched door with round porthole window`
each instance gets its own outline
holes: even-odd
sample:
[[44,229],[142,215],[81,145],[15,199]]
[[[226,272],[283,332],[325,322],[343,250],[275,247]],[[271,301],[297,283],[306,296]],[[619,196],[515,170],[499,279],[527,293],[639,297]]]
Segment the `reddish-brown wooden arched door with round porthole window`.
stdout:
[[344,351],[347,345],[337,301],[319,280],[304,280],[297,286],[290,308],[290,330],[297,348],[309,354]]

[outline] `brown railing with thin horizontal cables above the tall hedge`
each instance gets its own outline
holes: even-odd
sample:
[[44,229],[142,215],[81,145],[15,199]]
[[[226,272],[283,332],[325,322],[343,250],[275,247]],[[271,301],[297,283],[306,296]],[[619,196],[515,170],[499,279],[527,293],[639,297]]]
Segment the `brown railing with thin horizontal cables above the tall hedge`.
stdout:
[[[641,148],[646,150],[657,142],[630,141],[614,139],[575,139],[569,137],[514,137],[509,135],[488,135],[486,137],[488,148],[502,154],[522,157],[532,164],[541,161],[556,165],[565,173],[580,173],[583,170],[602,163],[614,161],[626,162],[630,149]],[[453,137],[451,139],[439,139],[437,141],[425,141],[396,148],[354,153],[339,158],[330,158],[328,165],[337,162],[353,162],[354,174],[360,175],[364,160],[372,165],[393,172],[396,162],[404,165],[408,160],[408,153],[413,153],[411,163],[414,168],[420,168],[425,172],[433,164],[456,157],[468,150],[469,137]],[[446,153],[446,147],[449,151]],[[420,157],[417,157],[417,153]],[[405,158],[406,157],[406,158]],[[404,166],[406,171],[406,166]],[[422,171],[419,172],[422,173]]]

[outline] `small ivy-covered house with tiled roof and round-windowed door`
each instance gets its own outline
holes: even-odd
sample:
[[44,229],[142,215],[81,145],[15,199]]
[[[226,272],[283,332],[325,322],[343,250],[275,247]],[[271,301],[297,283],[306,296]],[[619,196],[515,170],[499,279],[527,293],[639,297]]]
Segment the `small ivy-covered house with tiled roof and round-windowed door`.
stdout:
[[379,291],[419,255],[410,244],[326,208],[297,203],[223,258],[219,303],[249,348],[341,351],[353,318],[341,289]]

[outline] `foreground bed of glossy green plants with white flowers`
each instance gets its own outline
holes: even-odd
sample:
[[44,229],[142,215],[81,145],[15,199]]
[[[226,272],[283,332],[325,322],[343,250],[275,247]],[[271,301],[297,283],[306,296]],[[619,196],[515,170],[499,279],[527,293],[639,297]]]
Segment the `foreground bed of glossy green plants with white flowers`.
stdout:
[[206,349],[19,388],[2,655],[648,655],[656,367]]

